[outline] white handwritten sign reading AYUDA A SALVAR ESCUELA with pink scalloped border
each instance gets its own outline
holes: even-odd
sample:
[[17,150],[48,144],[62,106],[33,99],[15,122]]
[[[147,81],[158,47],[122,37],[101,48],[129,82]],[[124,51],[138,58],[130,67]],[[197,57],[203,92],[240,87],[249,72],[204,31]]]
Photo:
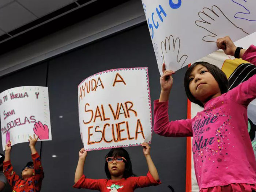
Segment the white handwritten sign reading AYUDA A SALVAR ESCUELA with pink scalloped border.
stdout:
[[152,117],[147,68],[112,69],[78,86],[79,125],[86,150],[150,143]]

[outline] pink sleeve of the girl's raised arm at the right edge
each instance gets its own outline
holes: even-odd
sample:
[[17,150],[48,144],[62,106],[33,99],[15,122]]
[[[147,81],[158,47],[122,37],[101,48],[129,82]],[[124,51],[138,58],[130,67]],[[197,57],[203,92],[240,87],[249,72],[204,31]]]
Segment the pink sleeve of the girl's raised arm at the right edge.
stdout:
[[[256,65],[256,46],[251,45],[242,59]],[[256,75],[228,91],[225,97],[247,107],[256,98]]]

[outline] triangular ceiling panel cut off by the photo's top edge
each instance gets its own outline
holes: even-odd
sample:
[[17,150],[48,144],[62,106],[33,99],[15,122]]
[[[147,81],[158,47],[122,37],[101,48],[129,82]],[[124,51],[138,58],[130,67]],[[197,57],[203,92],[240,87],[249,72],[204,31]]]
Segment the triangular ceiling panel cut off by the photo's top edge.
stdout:
[[[1,1],[1,0],[0,0]],[[73,0],[18,0],[20,4],[29,9],[38,17],[58,10],[65,5],[74,3]]]

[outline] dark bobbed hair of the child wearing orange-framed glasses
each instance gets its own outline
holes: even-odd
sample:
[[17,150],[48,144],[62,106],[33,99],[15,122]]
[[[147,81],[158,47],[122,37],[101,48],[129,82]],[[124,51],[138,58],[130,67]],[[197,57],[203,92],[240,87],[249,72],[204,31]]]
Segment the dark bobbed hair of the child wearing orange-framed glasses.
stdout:
[[[105,158],[108,157],[124,157],[127,161],[124,161],[125,163],[125,170],[124,170],[124,178],[128,178],[131,176],[135,176],[135,174],[133,174],[132,172],[132,162],[131,159],[129,157],[128,152],[124,149],[124,148],[112,148],[108,154],[106,154]],[[108,168],[108,162],[105,161],[105,173],[106,176],[108,177],[108,179],[111,179],[111,175],[109,172],[109,168]]]

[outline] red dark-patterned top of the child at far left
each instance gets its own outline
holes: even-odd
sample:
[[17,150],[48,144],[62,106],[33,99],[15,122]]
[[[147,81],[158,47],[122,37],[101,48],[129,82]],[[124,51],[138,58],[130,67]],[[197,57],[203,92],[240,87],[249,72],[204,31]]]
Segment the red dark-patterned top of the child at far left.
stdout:
[[41,189],[44,172],[40,156],[38,153],[31,156],[34,163],[33,176],[24,180],[14,172],[11,161],[4,162],[3,172],[14,192],[39,192]]

